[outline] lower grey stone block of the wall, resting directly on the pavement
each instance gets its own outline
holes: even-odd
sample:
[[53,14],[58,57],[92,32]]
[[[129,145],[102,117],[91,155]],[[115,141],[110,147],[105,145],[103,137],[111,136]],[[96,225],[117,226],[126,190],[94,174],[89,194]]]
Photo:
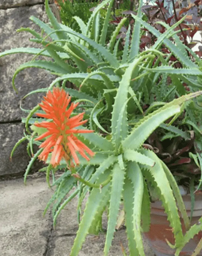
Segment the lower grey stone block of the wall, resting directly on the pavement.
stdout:
[[[21,123],[0,124],[0,178],[22,176],[25,173],[26,167],[31,160],[26,150],[28,141],[24,141],[17,147],[12,161],[10,161],[10,152],[15,143],[23,137],[23,129],[24,125]],[[35,153],[38,147],[34,146]],[[43,166],[42,162],[36,160],[31,171],[37,171]]]

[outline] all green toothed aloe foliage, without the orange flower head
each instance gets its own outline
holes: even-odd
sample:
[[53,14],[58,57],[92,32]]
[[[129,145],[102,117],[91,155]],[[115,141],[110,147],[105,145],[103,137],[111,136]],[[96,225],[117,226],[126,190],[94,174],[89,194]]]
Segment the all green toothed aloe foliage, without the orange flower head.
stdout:
[[[142,1],[140,1],[137,15],[132,15],[135,24],[132,32],[130,25],[127,29],[126,38],[123,41],[123,51],[119,50],[120,39],[116,37],[127,17],[121,20],[110,40],[107,41],[107,26],[112,4],[113,0],[102,1],[94,9],[87,24],[75,17],[83,32],[80,34],[66,25],[59,24],[46,0],[45,7],[50,25],[36,17],[30,18],[39,25],[46,36],[43,37],[29,28],[18,30],[19,32],[23,30],[30,32],[35,37],[30,40],[41,44],[43,49],[22,47],[0,53],[0,57],[19,52],[34,54],[31,62],[24,63],[15,71],[14,89],[17,91],[14,81],[21,70],[38,67],[50,71],[58,78],[50,84],[49,88],[36,89],[25,95],[24,98],[33,93],[52,90],[55,85],[62,86],[73,100],[80,102],[80,109],[75,109],[75,114],[76,111],[83,112],[85,110],[85,118],[89,118],[88,126],[95,130],[93,134],[78,135],[79,139],[96,154],[89,162],[79,159],[81,166],[76,168],[76,175],[71,175],[63,161],[57,168],[52,168],[49,164],[51,155],[46,162],[48,166],[41,169],[41,171],[46,171],[49,185],[49,175],[50,172],[52,173],[52,186],[56,186],[55,193],[44,211],[46,213],[49,206],[54,203],[52,209],[54,226],[60,211],[76,195],[79,197],[78,220],[80,222],[81,203],[87,192],[90,191],[70,255],[78,255],[88,233],[98,234],[102,231],[102,214],[106,207],[108,207],[108,228],[104,255],[108,255],[122,199],[130,255],[144,255],[141,232],[149,230],[150,226],[148,183],[155,188],[168,215],[175,237],[175,244],[169,245],[176,248],[177,253],[190,235],[184,236],[182,233],[176,201],[188,232],[191,230],[190,234],[192,235],[197,231],[194,233],[193,229],[195,228],[190,229],[182,197],[170,170],[153,151],[144,149],[143,144],[159,126],[189,139],[185,131],[172,127],[171,124],[183,113],[185,108],[187,109],[189,103],[194,103],[193,98],[202,94],[201,91],[198,91],[201,85],[195,79],[200,77],[202,72],[198,65],[184,54],[183,50],[186,48],[183,44],[180,45],[179,50],[169,40],[172,36],[178,42],[177,31],[174,29],[180,22],[167,28],[163,34],[159,33],[158,30],[141,19]],[[99,23],[102,8],[106,9],[103,25]],[[166,27],[166,24],[164,25]],[[139,51],[141,26],[158,37],[155,45],[143,52]],[[160,52],[162,44],[166,45],[171,53]],[[183,68],[175,69],[169,65],[171,54],[182,63]],[[39,55],[50,57],[53,61],[35,60]],[[143,105],[151,102],[150,95],[153,90],[156,86],[161,86],[164,83],[168,74],[172,80],[179,78],[177,85],[169,88],[170,90],[164,96],[167,97],[164,101],[150,104],[150,107],[144,112]],[[75,87],[67,88],[67,81],[72,82]],[[186,91],[182,90],[183,81],[189,83],[192,93],[185,94]],[[181,97],[166,103],[173,92],[173,99],[176,95]],[[36,111],[44,113],[39,109],[39,105],[32,110],[22,109],[28,113],[27,118],[22,119],[26,132],[11,153],[12,156],[16,147],[22,141],[28,140],[27,150],[32,158],[26,169],[25,182],[32,163],[41,153],[41,149],[34,153],[32,146],[33,144],[41,145],[41,142],[34,139],[44,133],[44,130],[35,126],[30,126],[32,134],[29,130],[30,124],[44,120],[33,116]],[[171,117],[173,118],[169,120],[169,126],[164,124]],[[55,172],[62,168],[65,168],[65,172],[55,181]],[[68,198],[65,198],[74,186],[76,190]],[[141,220],[143,226],[141,226]]]

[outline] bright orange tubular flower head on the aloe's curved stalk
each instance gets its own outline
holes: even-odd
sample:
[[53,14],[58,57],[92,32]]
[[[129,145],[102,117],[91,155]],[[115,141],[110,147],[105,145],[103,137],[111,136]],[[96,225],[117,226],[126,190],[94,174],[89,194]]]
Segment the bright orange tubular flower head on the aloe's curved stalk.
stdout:
[[41,140],[50,136],[39,146],[40,148],[44,148],[44,150],[38,158],[46,161],[49,153],[52,152],[50,163],[53,167],[59,165],[62,158],[64,158],[67,163],[71,163],[71,166],[73,165],[73,158],[75,163],[78,165],[79,159],[76,155],[76,151],[78,151],[82,157],[89,161],[90,159],[87,157],[84,150],[90,156],[94,156],[94,152],[74,136],[74,134],[90,133],[94,131],[75,129],[75,127],[87,122],[87,120],[81,121],[83,119],[84,112],[74,117],[70,117],[72,111],[79,103],[71,103],[70,107],[67,109],[71,96],[69,96],[63,89],[60,90],[59,88],[54,88],[52,93],[48,91],[46,97],[43,98],[44,101],[42,101],[42,104],[39,104],[39,106],[46,112],[46,114],[36,113],[36,115],[52,119],[53,122],[34,124],[37,127],[47,129],[47,132],[40,135],[35,140]]

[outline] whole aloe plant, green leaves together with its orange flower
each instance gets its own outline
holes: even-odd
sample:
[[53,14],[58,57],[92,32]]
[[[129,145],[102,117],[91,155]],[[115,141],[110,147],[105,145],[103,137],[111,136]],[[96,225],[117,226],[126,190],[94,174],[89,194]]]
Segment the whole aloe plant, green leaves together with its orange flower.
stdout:
[[[119,34],[127,20],[127,17],[124,17],[105,47],[112,4],[112,0],[102,1],[87,24],[75,18],[83,32],[80,34],[59,24],[49,8],[48,1],[45,1],[51,25],[35,17],[31,17],[31,20],[47,35],[42,37],[30,29],[18,30],[28,30],[35,37],[30,40],[41,43],[44,48],[18,48],[0,54],[1,57],[24,52],[53,59],[25,63],[15,72],[14,78],[23,68],[33,66],[45,68],[59,76],[49,88],[34,90],[24,97],[31,93],[47,93],[41,104],[32,110],[25,110],[29,112],[28,117],[22,119],[25,123],[25,137],[15,145],[11,156],[23,140],[28,140],[28,149],[30,148],[31,152],[33,144],[39,145],[39,150],[33,154],[26,169],[25,181],[37,157],[48,164],[41,171],[46,171],[49,185],[50,172],[52,173],[52,186],[56,188],[44,213],[53,203],[54,226],[60,211],[78,195],[80,224],[71,256],[78,255],[88,233],[99,234],[102,231],[102,214],[106,208],[108,227],[104,255],[108,255],[121,201],[124,204],[130,255],[144,255],[141,232],[150,229],[150,203],[151,200],[156,200],[156,196],[164,206],[174,235],[174,241],[168,237],[167,242],[176,251],[175,254],[179,255],[184,245],[202,230],[202,223],[200,219],[197,225],[190,227],[190,220],[177,185],[179,180],[176,181],[174,177],[177,175],[172,174],[164,163],[164,144],[162,142],[161,145],[158,139],[165,141],[172,138],[175,141],[181,136],[183,143],[189,143],[193,140],[193,132],[188,130],[193,127],[196,131],[198,129],[196,143],[200,147],[200,129],[197,122],[190,121],[188,116],[190,111],[195,113],[196,117],[201,114],[202,92],[199,91],[201,85],[197,78],[200,79],[202,72],[198,63],[194,63],[184,54],[185,50],[190,54],[193,52],[177,37],[179,30],[174,31],[185,18],[172,27],[167,28],[165,25],[167,30],[160,33],[141,19],[141,1],[137,15],[132,14],[134,25],[129,24],[126,34]],[[101,18],[100,10],[104,7],[105,17]],[[101,29],[100,20],[103,24]],[[141,25],[146,30],[141,30]],[[139,48],[139,39],[147,30],[151,31],[157,40],[151,48],[142,50]],[[122,45],[120,42],[123,37],[125,40]],[[176,40],[178,47],[169,40],[171,37]],[[162,45],[166,45],[170,52],[162,52]],[[172,55],[181,63],[181,68],[172,66]],[[168,78],[173,83],[167,83]],[[75,87],[67,88],[67,81],[71,81]],[[190,90],[188,94],[183,90],[184,82]],[[163,100],[156,101],[159,92],[163,90],[166,90]],[[74,103],[70,105],[72,100]],[[37,117],[34,116],[35,113]],[[84,125],[86,121],[82,121],[83,117],[89,118],[87,125]],[[82,124],[84,126],[80,127]],[[155,134],[158,137],[156,140],[152,139]],[[158,145],[155,144],[157,142]],[[174,147],[173,143],[171,142],[170,148],[174,150],[173,154],[176,154],[179,148]],[[178,146],[184,148],[183,143]],[[169,152],[165,153],[168,155]],[[180,164],[175,162],[181,160],[177,158],[179,153],[176,158],[169,154],[172,158],[167,162],[170,167],[174,166],[173,163]],[[192,147],[190,159],[191,157],[196,165],[197,158],[201,161],[200,152],[193,151]],[[61,168],[64,173],[55,180],[54,174]],[[198,180],[192,181],[193,186],[195,182],[198,183]],[[76,189],[66,198],[73,187]],[[81,203],[88,191],[90,195],[80,220]],[[183,233],[179,213],[187,229],[186,234]],[[153,224],[152,222],[152,228]],[[164,239],[166,240],[166,237]]]

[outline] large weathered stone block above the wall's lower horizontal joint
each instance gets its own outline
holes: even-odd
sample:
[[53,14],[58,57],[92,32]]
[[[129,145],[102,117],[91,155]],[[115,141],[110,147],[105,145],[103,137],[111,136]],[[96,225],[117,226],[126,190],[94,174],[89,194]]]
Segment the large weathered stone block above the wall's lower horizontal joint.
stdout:
[[[52,5],[52,9],[57,13],[58,10],[55,5]],[[29,38],[33,36],[28,32],[16,32],[20,27],[30,27],[36,29],[37,32],[40,31],[39,27],[29,19],[31,15],[48,22],[44,4],[0,9],[0,52],[17,47],[41,47],[41,45],[29,41]],[[19,120],[21,116],[26,116],[19,108],[21,98],[34,89],[48,87],[55,78],[46,70],[25,69],[15,79],[18,90],[18,94],[16,94],[12,88],[12,76],[18,66],[31,61],[32,58],[33,55],[18,53],[0,59],[0,122]],[[51,59],[49,58],[49,60]],[[42,94],[34,94],[23,101],[22,107],[30,109],[36,106],[41,99]]]

